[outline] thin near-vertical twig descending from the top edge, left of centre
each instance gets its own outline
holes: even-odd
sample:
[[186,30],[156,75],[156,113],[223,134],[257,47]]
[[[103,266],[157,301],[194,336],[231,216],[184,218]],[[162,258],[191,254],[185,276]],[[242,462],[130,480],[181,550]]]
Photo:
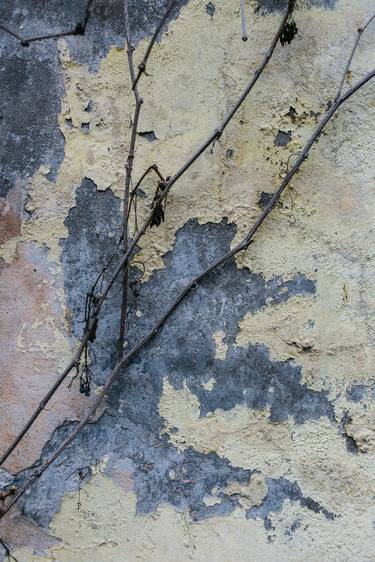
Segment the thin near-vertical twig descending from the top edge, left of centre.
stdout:
[[[125,12],[125,38],[126,38],[126,45],[128,51],[128,66],[129,66],[129,75],[131,83],[134,83],[135,80],[135,71],[134,71],[134,60],[133,60],[133,52],[134,47],[131,42],[131,35],[130,35],[130,25],[129,25],[129,7],[128,7],[128,0],[124,0],[124,12]],[[130,135],[130,146],[128,152],[128,158],[126,160],[125,166],[125,187],[124,187],[124,209],[123,209],[123,225],[122,225],[122,244],[124,254],[126,254],[129,246],[129,191],[130,191],[130,184],[132,181],[132,171],[133,171],[133,163],[134,163],[134,156],[135,156],[135,145],[137,141],[137,128],[139,122],[139,116],[141,112],[141,107],[143,104],[143,99],[139,94],[138,86],[133,88],[134,99],[135,99],[135,108],[134,108],[134,116],[132,122],[132,130]],[[122,278],[122,299],[121,299],[121,314],[120,314],[120,330],[119,330],[119,338],[118,338],[118,358],[124,354],[124,342],[125,342],[125,331],[126,331],[126,315],[128,309],[128,290],[129,290],[129,273],[128,267],[124,265],[124,274]]]

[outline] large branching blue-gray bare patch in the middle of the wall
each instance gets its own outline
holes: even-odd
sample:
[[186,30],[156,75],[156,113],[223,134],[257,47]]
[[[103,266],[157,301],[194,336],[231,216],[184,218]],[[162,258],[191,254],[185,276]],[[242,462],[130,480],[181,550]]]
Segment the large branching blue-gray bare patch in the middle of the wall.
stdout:
[[[67,303],[76,337],[83,330],[85,292],[116,248],[121,220],[120,200],[110,190],[97,191],[91,180],[84,180],[77,190],[76,206],[65,221],[68,237],[61,241]],[[177,232],[173,251],[163,257],[164,269],[154,271],[147,282],[139,284],[139,269],[131,268],[130,280],[134,284],[129,295],[128,348],[150,329],[185,283],[228,251],[235,232],[235,226],[225,219],[220,224],[206,225],[190,220]],[[246,404],[250,408],[269,405],[271,420],[275,421],[288,415],[298,423],[322,415],[332,418],[326,395],[301,383],[300,367],[288,361],[271,361],[264,346],[234,345],[238,323],[246,312],[254,313],[295,294],[314,293],[314,281],[304,275],[287,281],[281,277],[266,281],[247,268],[237,269],[234,260],[210,275],[127,365],[110,392],[107,414],[87,426],[53,470],[47,471],[30,495],[24,497],[24,513],[47,525],[64,493],[77,487],[77,470],[104,455],[110,459],[109,474],[117,460],[131,462],[140,514],[155,510],[161,503],[187,511],[195,519],[234,509],[238,498],[226,495],[224,488],[229,482],[248,482],[251,471],[234,468],[213,453],[204,455],[190,448],[178,451],[167,435],[161,435],[164,420],[158,404],[164,377],[176,388],[186,381],[200,400],[202,416],[219,407]],[[114,288],[111,297],[90,349],[98,383],[107,378],[115,361],[119,287]],[[140,318],[137,310],[142,313]],[[227,358],[222,361],[215,358],[213,333],[218,329],[224,330],[228,345]],[[201,384],[208,376],[215,379],[211,393]],[[49,456],[74,426],[58,428],[42,457]],[[20,474],[19,480],[25,476]],[[214,486],[219,490],[220,503],[206,506],[203,498]],[[298,496],[295,490],[292,488],[289,496]],[[271,486],[269,502],[273,491],[277,500],[280,486]],[[308,503],[302,497],[299,501]],[[313,503],[311,508],[314,507]]]

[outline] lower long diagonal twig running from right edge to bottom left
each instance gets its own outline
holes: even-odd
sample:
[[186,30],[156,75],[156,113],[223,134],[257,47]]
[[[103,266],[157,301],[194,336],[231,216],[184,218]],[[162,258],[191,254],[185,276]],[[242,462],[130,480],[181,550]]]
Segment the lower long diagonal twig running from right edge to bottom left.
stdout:
[[336,113],[336,111],[340,108],[340,106],[345,101],[347,101],[353,94],[355,94],[360,88],[362,88],[365,84],[367,84],[367,82],[369,82],[372,78],[374,78],[374,76],[375,76],[375,69],[372,70],[371,72],[369,72],[362,80],[357,82],[350,90],[348,90],[342,97],[340,97],[339,100],[337,100],[335,103],[333,103],[332,106],[326,111],[326,113],[323,115],[322,119],[320,120],[318,126],[316,127],[316,129],[314,130],[314,132],[312,133],[312,135],[310,136],[310,138],[306,142],[306,144],[305,144],[303,150],[301,151],[301,154],[299,155],[298,159],[296,160],[295,164],[293,165],[291,170],[288,172],[286,177],[283,179],[283,181],[281,182],[277,191],[271,197],[271,199],[270,199],[269,203],[267,204],[266,208],[262,211],[262,213],[259,215],[257,220],[254,222],[254,224],[249,229],[249,231],[245,234],[245,236],[242,238],[242,240],[240,242],[238,242],[238,244],[236,244],[236,246],[234,246],[234,248],[232,248],[232,250],[230,250],[229,252],[227,252],[226,254],[221,256],[219,259],[214,261],[209,267],[207,267],[204,271],[202,271],[199,275],[194,277],[194,279],[192,279],[190,281],[190,283],[188,283],[184,287],[184,289],[180,292],[180,294],[178,295],[176,300],[167,309],[167,311],[163,314],[163,316],[158,320],[158,322],[154,325],[154,327],[131,349],[131,351],[129,351],[129,353],[126,356],[124,356],[120,361],[117,362],[115,368],[111,372],[106,384],[103,386],[97,400],[91,406],[89,412],[86,414],[86,416],[83,418],[83,420],[78,423],[78,425],[75,427],[75,429],[72,431],[72,433],[67,437],[67,439],[65,439],[65,441],[63,441],[63,443],[55,451],[55,453],[53,453],[53,455],[39,468],[39,470],[37,470],[31,476],[31,478],[26,482],[26,484],[18,490],[18,492],[15,494],[15,496],[9,501],[7,506],[3,509],[2,513],[0,513],[0,519],[17,503],[17,501],[25,494],[25,492],[30,488],[30,486],[32,486],[41,477],[41,475],[47,470],[47,468],[63,453],[63,451],[71,444],[73,439],[82,431],[82,429],[89,422],[92,421],[93,417],[95,416],[96,411],[98,410],[98,408],[102,404],[102,402],[105,400],[109,389],[111,388],[113,382],[115,381],[115,379],[119,375],[122,367],[126,363],[128,363],[129,360],[146,343],[148,343],[158,333],[160,328],[163,326],[163,324],[166,322],[166,320],[172,315],[174,310],[183,301],[183,299],[186,297],[186,295],[193,288],[196,288],[198,286],[198,284],[200,283],[200,281],[202,281],[203,278],[207,277],[207,275],[209,273],[211,273],[212,271],[214,271],[215,269],[217,269],[218,267],[220,267],[221,265],[226,263],[228,260],[233,258],[233,256],[235,256],[239,252],[242,252],[243,250],[246,250],[248,248],[249,244],[251,244],[251,242],[252,242],[252,239],[253,239],[255,233],[260,228],[260,226],[263,224],[263,222],[265,221],[267,216],[274,209],[274,207],[276,206],[276,204],[277,204],[278,200],[280,199],[282,193],[284,192],[286,187],[289,185],[289,183],[292,180],[292,178],[294,177],[294,175],[298,172],[302,163],[307,159],[312,146],[314,145],[315,142],[317,142],[319,140],[319,137],[320,137],[323,129],[326,127],[327,123],[331,120],[331,118]]

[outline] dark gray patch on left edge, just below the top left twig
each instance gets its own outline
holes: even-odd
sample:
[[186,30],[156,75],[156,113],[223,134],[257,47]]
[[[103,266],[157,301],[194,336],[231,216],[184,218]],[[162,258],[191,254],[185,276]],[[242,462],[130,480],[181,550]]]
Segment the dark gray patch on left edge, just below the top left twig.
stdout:
[[[1,18],[0,18],[1,21]],[[57,174],[64,157],[58,128],[60,84],[57,51],[36,50],[26,56],[0,32],[0,197],[42,165]]]

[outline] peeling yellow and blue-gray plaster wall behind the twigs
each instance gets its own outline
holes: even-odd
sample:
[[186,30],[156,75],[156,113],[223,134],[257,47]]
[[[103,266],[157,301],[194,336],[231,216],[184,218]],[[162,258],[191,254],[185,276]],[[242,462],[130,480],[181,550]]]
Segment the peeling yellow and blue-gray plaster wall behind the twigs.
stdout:
[[[130,2],[137,63],[166,4]],[[140,82],[134,178],[155,162],[172,175],[259,65],[285,1],[245,6],[247,42],[240,0],[177,2]],[[371,10],[373,0],[298,2],[297,36],[278,44],[138,245],[127,346],[258,216]],[[74,28],[84,11],[83,0],[3,0],[0,23],[30,37]],[[122,0],[94,0],[82,36],[23,47],[0,31],[2,450],[70,359],[85,294],[121,233],[133,114],[124,42]],[[346,87],[374,67],[374,44],[375,26]],[[374,145],[370,82],[255,242],[189,295],[4,517],[19,562],[374,562]],[[150,176],[139,222],[154,190]],[[3,484],[21,485],[93,403],[115,361],[119,306],[116,285],[90,350],[91,396],[70,377]]]

